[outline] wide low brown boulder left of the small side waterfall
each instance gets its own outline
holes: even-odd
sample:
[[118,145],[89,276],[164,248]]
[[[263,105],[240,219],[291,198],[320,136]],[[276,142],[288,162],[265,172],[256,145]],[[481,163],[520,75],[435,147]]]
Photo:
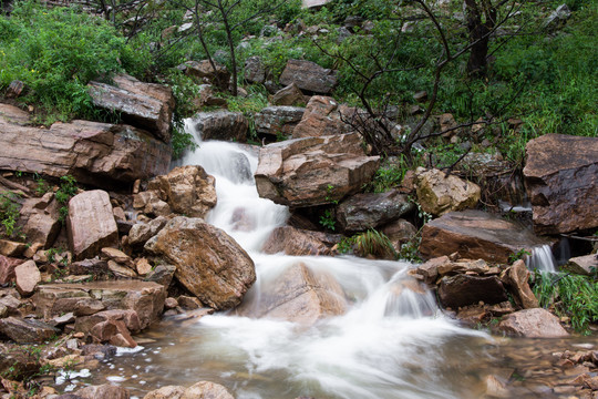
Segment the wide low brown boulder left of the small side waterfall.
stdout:
[[458,253],[463,258],[506,264],[511,255],[547,244],[522,225],[482,211],[451,212],[424,225],[425,258]]

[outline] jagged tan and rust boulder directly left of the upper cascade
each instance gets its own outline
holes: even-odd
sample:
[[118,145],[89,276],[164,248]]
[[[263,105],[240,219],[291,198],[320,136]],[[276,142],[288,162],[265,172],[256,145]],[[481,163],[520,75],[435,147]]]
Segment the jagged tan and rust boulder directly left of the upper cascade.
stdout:
[[171,209],[190,217],[204,217],[216,206],[216,181],[198,165],[179,166],[147,184]]

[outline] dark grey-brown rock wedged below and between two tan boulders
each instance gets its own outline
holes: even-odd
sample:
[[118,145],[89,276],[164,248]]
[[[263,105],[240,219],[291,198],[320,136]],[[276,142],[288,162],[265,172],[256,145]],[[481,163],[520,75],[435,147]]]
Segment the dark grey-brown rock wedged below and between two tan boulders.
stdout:
[[363,232],[396,219],[413,209],[415,205],[396,190],[355,194],[338,206],[337,221],[344,231]]

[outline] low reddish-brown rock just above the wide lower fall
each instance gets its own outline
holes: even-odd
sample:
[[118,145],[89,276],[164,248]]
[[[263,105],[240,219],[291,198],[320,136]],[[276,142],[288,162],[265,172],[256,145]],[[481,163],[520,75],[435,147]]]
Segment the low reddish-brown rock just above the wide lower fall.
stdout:
[[310,232],[291,226],[277,227],[264,244],[266,254],[285,253],[290,256],[327,255],[332,256],[341,235]]

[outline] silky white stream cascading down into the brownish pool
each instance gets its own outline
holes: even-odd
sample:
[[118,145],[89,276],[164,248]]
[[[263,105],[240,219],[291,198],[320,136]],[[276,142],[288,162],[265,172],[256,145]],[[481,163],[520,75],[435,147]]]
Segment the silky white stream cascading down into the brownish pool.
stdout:
[[338,280],[349,310],[311,327],[226,314],[165,319],[142,336],[151,341],[138,351],[103,364],[95,382],[107,379],[138,397],[200,380],[221,383],[239,399],[483,395],[485,378],[504,364],[497,340],[445,317],[433,295],[408,276],[412,265],[266,255],[260,246],[289,212],[258,196],[256,154],[233,143],[202,142],[183,163],[203,165],[216,177],[218,204],[207,221],[231,235],[256,264],[258,278],[246,303],[259,300],[265,285],[302,263]]

